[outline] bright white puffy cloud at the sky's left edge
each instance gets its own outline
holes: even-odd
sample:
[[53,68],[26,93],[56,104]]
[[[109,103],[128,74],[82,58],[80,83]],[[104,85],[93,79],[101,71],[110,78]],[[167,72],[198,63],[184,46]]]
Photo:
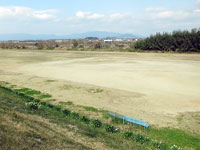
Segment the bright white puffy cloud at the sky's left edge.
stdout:
[[37,20],[49,20],[56,19],[54,15],[57,13],[56,9],[46,10],[34,10],[29,7],[0,7],[0,19],[37,19]]

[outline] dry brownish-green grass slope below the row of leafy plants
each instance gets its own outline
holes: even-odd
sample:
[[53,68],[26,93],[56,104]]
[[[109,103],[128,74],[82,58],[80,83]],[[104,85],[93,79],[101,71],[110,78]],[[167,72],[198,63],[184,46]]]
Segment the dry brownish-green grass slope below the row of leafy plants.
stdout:
[[56,109],[30,110],[23,97],[0,88],[0,149],[148,148],[67,118]]

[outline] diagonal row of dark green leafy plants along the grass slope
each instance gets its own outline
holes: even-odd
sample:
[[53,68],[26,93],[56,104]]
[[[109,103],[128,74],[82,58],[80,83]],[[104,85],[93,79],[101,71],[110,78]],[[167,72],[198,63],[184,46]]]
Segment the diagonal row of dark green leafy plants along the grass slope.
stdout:
[[65,115],[66,117],[69,117],[70,119],[74,120],[80,120],[81,122],[91,125],[94,128],[104,128],[106,132],[108,133],[119,133],[121,136],[123,136],[125,139],[131,139],[135,142],[138,142],[140,144],[146,144],[147,146],[150,146],[152,148],[160,149],[160,150],[179,150],[181,149],[179,146],[173,145],[169,146],[165,143],[156,141],[156,140],[151,140],[148,137],[145,137],[144,135],[141,134],[134,134],[131,131],[125,131],[122,132],[119,129],[115,128],[112,125],[109,124],[103,124],[100,120],[91,120],[86,116],[82,116],[79,113],[76,112],[71,112],[68,109],[62,109],[60,106],[50,104],[48,102],[42,102],[39,99],[33,98],[31,96],[28,96],[24,93],[19,92],[19,90],[12,90],[10,88],[0,86],[1,89],[4,89],[8,92],[17,94],[20,97],[23,97],[24,100],[27,102],[27,108],[29,108],[32,111],[37,111],[40,109],[48,110],[52,109],[56,111],[57,113],[60,113],[62,115]]

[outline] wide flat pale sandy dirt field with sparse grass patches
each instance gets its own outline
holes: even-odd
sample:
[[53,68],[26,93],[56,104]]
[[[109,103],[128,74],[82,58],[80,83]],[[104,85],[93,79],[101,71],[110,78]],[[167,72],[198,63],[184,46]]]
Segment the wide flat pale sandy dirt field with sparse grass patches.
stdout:
[[200,55],[0,50],[0,80],[200,133]]

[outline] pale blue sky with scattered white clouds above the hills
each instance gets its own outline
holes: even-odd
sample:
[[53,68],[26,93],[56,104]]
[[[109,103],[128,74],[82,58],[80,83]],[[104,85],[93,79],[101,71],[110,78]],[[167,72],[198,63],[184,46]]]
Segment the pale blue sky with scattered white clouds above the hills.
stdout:
[[0,34],[149,36],[192,28],[200,28],[200,0],[0,0]]

